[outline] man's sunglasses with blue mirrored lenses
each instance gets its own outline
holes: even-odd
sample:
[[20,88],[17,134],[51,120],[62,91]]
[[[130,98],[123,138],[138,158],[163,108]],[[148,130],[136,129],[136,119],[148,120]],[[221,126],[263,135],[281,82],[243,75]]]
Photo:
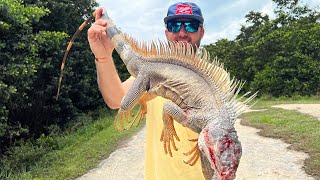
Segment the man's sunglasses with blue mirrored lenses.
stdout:
[[188,33],[197,32],[199,26],[201,26],[199,21],[169,21],[167,29],[169,32],[177,33],[180,31],[182,24]]

